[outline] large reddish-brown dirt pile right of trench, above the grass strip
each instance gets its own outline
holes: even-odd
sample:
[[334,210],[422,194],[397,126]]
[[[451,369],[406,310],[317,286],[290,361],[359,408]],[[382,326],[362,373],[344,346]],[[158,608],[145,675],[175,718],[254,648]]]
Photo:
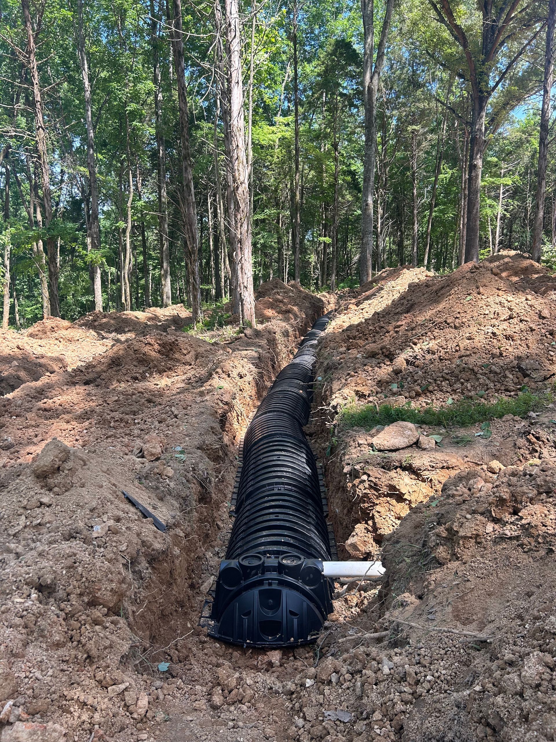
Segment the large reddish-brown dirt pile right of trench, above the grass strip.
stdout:
[[556,307],[546,272],[544,295],[530,288],[541,270],[500,254],[447,276],[420,276],[363,321],[348,309],[352,324],[322,343],[322,403],[337,409],[395,397],[398,405],[442,405],[546,387],[556,374]]

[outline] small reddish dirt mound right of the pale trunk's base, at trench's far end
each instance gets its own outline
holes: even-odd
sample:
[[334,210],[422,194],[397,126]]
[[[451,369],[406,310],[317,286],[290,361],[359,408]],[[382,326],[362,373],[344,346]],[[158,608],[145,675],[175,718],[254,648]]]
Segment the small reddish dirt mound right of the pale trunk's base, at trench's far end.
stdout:
[[309,326],[324,314],[333,303],[327,294],[314,295],[291,281],[286,285],[279,278],[259,286],[256,295],[255,316],[259,321],[279,319],[295,326]]

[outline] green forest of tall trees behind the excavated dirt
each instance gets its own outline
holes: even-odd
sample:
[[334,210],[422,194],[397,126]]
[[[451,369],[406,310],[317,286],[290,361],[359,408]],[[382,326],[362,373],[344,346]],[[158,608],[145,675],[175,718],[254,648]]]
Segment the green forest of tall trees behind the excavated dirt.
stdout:
[[336,292],[502,249],[556,265],[555,14],[7,0],[3,327],[173,303],[254,324],[272,278]]

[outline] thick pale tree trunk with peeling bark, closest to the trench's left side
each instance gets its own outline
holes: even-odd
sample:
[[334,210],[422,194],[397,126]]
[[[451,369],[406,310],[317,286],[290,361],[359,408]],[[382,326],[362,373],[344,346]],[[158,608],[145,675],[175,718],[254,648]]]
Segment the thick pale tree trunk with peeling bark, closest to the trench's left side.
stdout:
[[239,321],[255,326],[253,264],[251,257],[251,217],[249,185],[245,158],[245,122],[243,118],[243,82],[238,0],[225,0],[226,50],[230,102],[231,172],[234,185],[234,222],[236,255],[234,290],[239,304]]

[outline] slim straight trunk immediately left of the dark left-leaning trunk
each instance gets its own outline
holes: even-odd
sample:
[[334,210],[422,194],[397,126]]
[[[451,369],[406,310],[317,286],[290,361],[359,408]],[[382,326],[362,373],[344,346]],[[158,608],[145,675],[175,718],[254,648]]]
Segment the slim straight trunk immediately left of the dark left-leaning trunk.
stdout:
[[156,122],[156,186],[159,201],[160,295],[162,306],[172,305],[170,246],[168,243],[168,199],[166,197],[166,152],[162,127],[162,83],[159,62],[159,19],[150,0],[150,41],[153,48],[154,115]]

